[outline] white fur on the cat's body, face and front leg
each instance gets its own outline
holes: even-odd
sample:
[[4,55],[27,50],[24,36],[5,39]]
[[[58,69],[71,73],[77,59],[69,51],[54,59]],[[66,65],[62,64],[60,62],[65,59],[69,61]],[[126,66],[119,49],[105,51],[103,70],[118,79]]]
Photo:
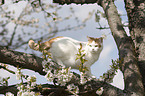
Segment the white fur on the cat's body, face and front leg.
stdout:
[[80,48],[80,43],[82,44],[82,50],[85,50],[86,53],[85,59],[87,62],[84,63],[84,66],[88,68],[87,75],[92,76],[90,67],[94,64],[100,55],[100,52],[103,49],[103,45],[95,47],[97,44],[93,41],[91,44],[88,42],[81,42],[74,40],[69,37],[57,38],[51,45],[49,49],[52,58],[58,64],[64,65],[65,67],[71,67],[72,69],[79,69],[81,64],[80,60],[76,60],[78,49]]

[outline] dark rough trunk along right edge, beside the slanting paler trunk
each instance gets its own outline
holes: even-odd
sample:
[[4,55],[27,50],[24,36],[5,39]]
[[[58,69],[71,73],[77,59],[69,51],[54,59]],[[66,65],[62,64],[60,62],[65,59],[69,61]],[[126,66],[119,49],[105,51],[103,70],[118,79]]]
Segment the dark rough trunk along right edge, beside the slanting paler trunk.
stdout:
[[145,1],[125,0],[129,30],[135,44],[138,65],[145,88]]

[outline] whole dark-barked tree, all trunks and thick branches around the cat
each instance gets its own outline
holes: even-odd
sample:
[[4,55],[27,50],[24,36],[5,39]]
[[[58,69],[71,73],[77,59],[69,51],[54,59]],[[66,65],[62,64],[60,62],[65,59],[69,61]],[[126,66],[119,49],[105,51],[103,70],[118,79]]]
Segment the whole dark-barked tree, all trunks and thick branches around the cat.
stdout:
[[[40,0],[38,0],[40,3]],[[125,89],[121,90],[107,82],[91,80],[86,82],[84,85],[79,83],[79,76],[75,74],[71,83],[79,86],[80,95],[88,94],[91,96],[96,95],[96,90],[103,88],[103,96],[144,96],[145,88],[145,1],[144,0],[124,0],[125,8],[128,15],[129,21],[129,32],[128,36],[124,30],[121,22],[120,15],[117,12],[117,8],[114,4],[114,0],[54,0],[55,3],[59,4],[89,4],[97,3],[100,5],[108,21],[109,27],[112,32],[112,36],[116,42],[119,51],[119,67],[124,76]],[[32,4],[32,3],[31,3]],[[13,39],[13,38],[12,38]],[[11,44],[11,42],[9,43]],[[34,55],[25,54],[22,52],[16,52],[7,47],[0,47],[0,62],[13,65],[15,67],[22,67],[39,72],[39,74],[46,74],[42,71],[43,59]],[[118,63],[117,63],[118,64]],[[30,66],[31,65],[31,66]],[[3,67],[3,66],[1,66]],[[5,68],[5,67],[3,67]],[[5,68],[6,69],[6,68]],[[54,80],[55,82],[55,80]],[[0,86],[2,92],[13,92],[16,94],[16,86]],[[41,90],[40,90],[41,89]],[[60,88],[58,85],[47,85],[44,84],[41,88],[37,87],[33,90],[37,90],[43,94],[49,95],[69,95],[73,94],[68,91],[66,86]]]

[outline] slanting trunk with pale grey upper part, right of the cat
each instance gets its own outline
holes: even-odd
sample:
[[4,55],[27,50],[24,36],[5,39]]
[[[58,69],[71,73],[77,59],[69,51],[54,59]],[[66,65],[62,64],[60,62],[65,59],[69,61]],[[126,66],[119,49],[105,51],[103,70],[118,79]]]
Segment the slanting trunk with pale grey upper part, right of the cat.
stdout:
[[119,50],[120,67],[124,75],[125,90],[129,90],[133,95],[144,96],[144,87],[137,65],[134,44],[124,31],[114,1],[103,0],[101,6],[105,11],[108,24]]

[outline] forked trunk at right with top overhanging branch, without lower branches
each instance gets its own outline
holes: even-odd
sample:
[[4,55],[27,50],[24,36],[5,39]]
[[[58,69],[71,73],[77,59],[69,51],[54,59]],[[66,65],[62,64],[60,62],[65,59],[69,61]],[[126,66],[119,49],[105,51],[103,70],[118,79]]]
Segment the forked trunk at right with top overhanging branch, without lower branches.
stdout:
[[[125,90],[130,90],[136,95],[144,94],[144,26],[145,6],[144,1],[124,0],[128,15],[129,30],[131,37],[127,36],[123,24],[114,4],[114,0],[85,0],[85,1],[64,1],[55,0],[62,3],[98,3],[103,7],[108,20],[112,35],[119,50],[119,59],[121,60],[121,71],[124,75]],[[136,84],[138,82],[138,84]],[[138,90],[140,89],[140,90]]]

